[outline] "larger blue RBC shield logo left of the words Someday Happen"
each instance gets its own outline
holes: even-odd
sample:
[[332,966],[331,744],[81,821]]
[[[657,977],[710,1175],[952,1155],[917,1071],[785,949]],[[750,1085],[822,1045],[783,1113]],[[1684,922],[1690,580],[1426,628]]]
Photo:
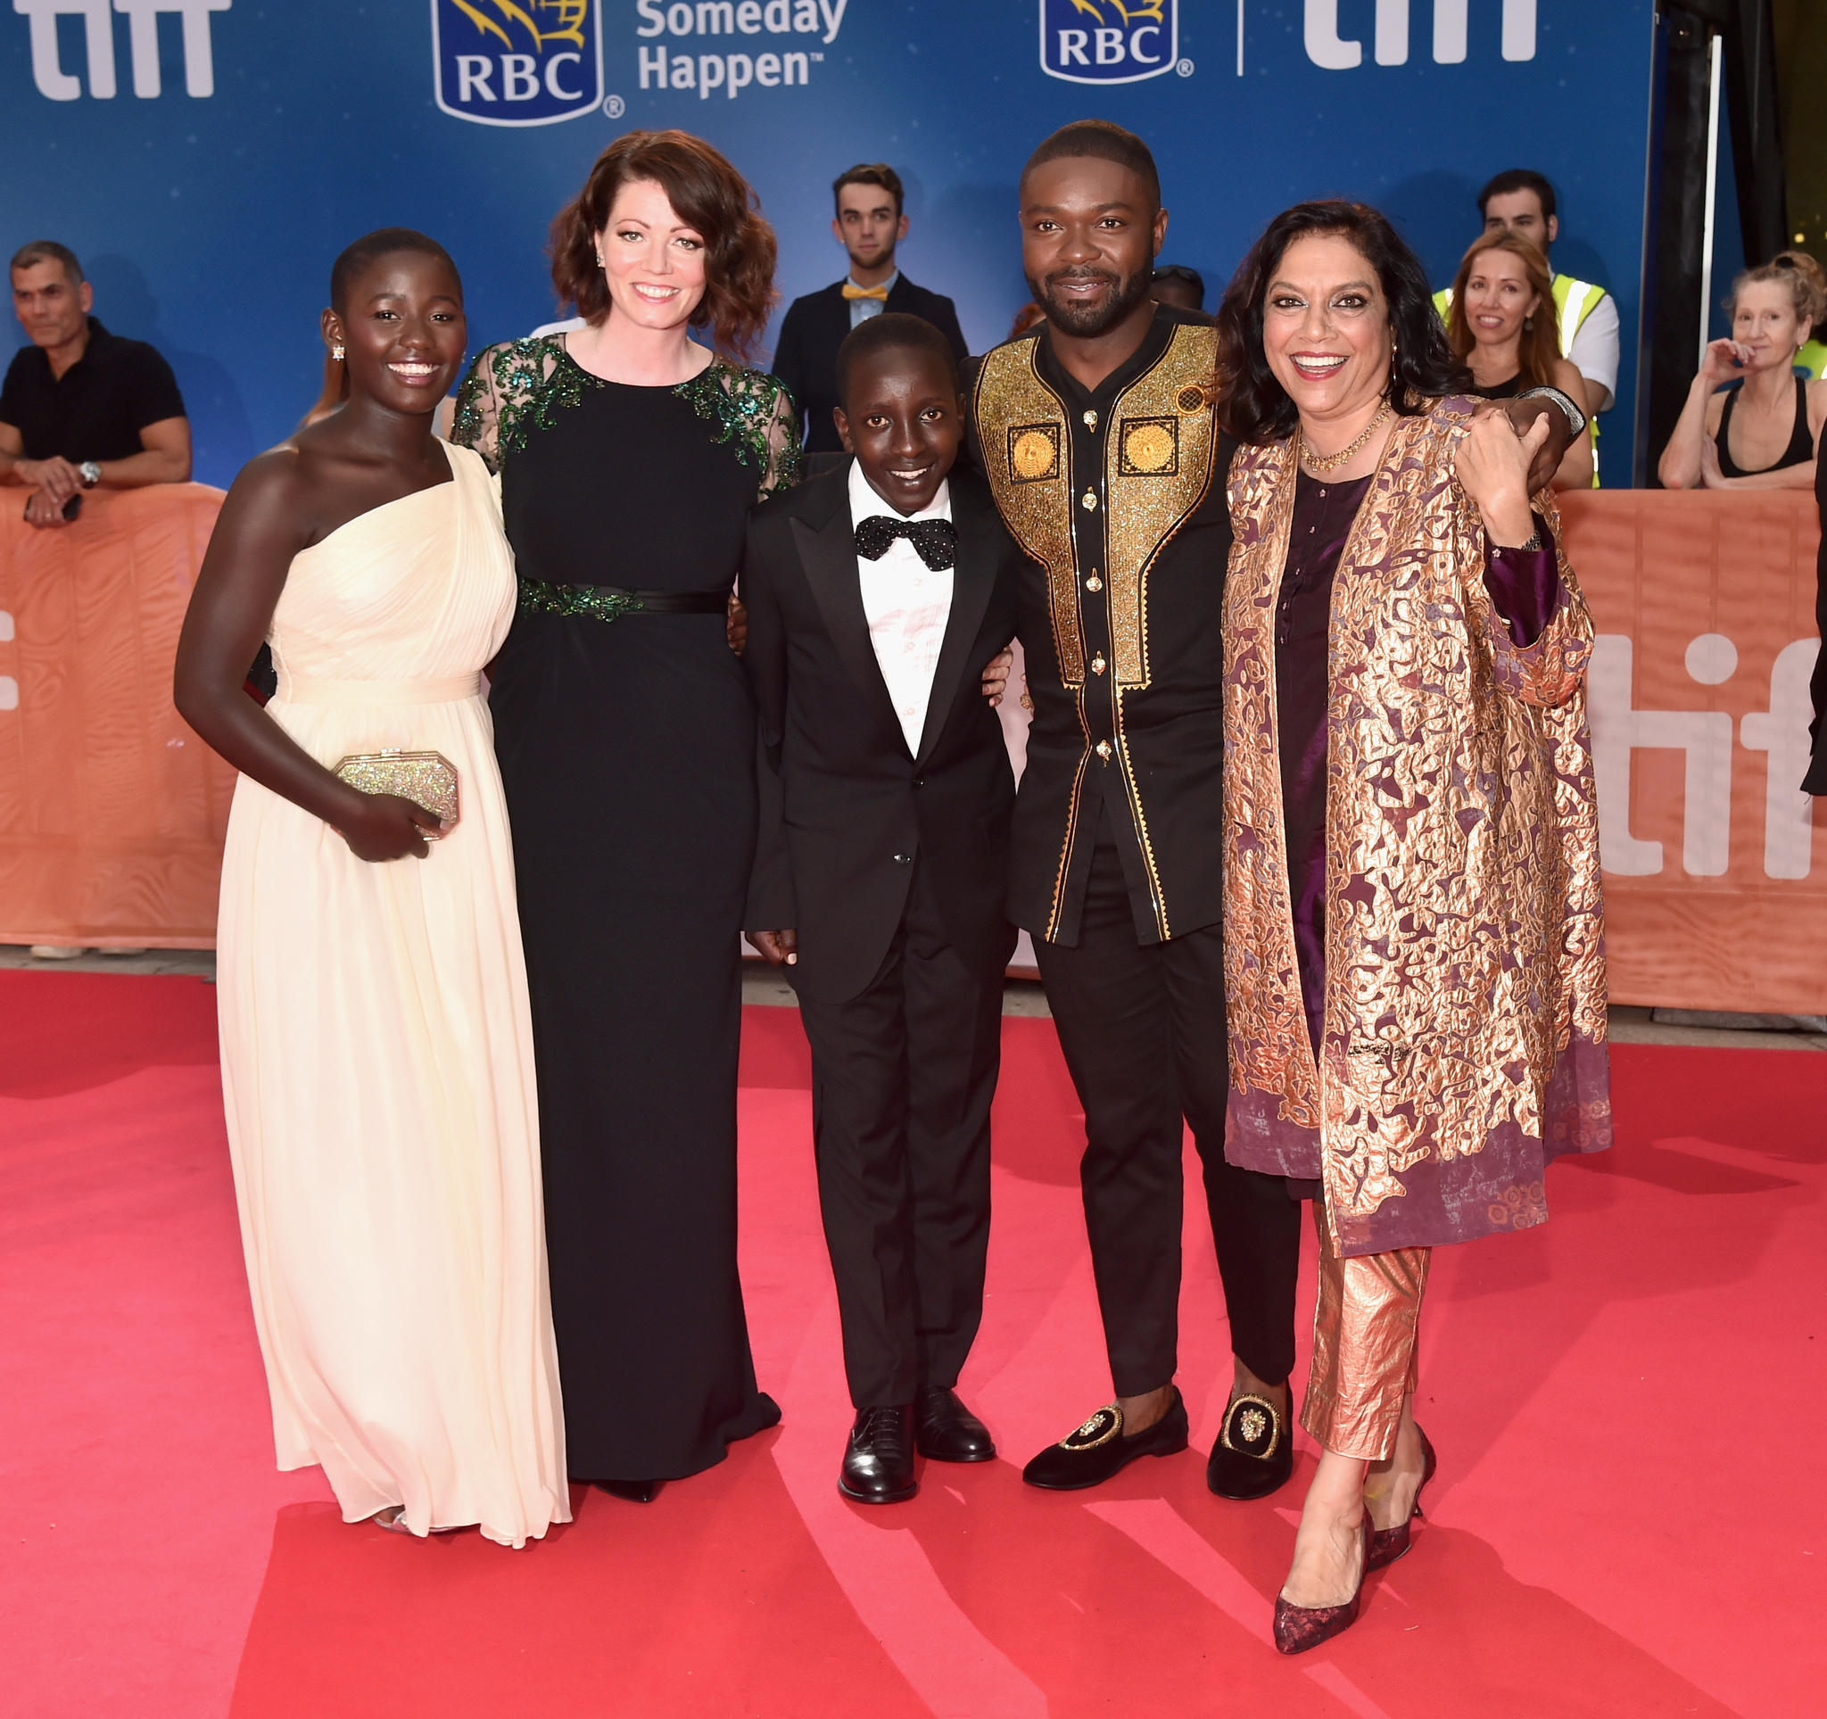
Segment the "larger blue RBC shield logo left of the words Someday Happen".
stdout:
[[603,0],[431,0],[438,106],[550,126],[603,100]]

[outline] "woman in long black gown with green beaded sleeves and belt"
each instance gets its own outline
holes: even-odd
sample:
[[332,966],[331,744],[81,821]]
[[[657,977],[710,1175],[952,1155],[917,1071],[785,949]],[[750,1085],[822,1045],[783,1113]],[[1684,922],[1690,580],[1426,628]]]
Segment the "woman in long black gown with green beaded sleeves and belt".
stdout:
[[572,1474],[647,1500],[780,1419],[736,1277],[738,937],[755,714],[725,641],[744,517],[793,480],[760,334],[775,236],[736,170],[634,132],[554,223],[588,327],[477,358],[521,603],[491,670],[539,1063]]

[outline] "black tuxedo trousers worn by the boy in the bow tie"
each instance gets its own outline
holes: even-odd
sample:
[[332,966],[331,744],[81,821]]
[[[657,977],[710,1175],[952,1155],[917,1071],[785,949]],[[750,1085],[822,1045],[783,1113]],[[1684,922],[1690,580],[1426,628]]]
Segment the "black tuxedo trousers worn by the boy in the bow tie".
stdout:
[[983,1319],[1003,974],[957,957],[915,860],[877,976],[800,1019],[850,1396],[912,1403],[957,1383]]

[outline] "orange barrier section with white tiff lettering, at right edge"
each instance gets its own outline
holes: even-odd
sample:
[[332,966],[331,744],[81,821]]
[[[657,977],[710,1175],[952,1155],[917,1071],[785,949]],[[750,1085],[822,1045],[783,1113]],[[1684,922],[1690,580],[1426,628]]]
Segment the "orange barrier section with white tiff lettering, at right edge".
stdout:
[[1807,491],[1562,497],[1591,605],[1613,1003],[1827,1014]]

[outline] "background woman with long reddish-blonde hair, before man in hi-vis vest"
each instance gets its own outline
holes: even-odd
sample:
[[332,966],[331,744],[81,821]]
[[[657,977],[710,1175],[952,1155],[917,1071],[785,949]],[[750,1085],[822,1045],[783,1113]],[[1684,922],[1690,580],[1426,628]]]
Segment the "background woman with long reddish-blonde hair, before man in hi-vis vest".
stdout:
[[[1515,400],[1524,389],[1557,387],[1591,411],[1586,378],[1560,356],[1547,258],[1511,232],[1480,237],[1460,259],[1447,312],[1447,345],[1473,373],[1469,395]],[[1557,490],[1589,490],[1593,438],[1575,437],[1555,471]]]

